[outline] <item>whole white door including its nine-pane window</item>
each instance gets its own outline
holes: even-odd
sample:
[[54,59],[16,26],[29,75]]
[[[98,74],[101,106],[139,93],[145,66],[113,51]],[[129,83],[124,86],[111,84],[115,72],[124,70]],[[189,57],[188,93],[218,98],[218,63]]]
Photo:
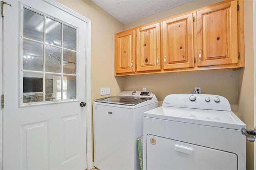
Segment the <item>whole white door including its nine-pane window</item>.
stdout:
[[3,169],[83,169],[86,22],[49,0],[6,0]]

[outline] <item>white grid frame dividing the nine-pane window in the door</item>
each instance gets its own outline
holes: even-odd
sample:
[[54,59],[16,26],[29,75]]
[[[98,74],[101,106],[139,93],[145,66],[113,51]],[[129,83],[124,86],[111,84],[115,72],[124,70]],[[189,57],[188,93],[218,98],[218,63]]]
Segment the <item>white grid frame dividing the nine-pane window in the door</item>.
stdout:
[[[40,14],[42,16],[44,16],[44,28],[43,28],[43,42],[41,41],[37,41],[37,40],[34,40],[34,39],[30,39],[30,38],[27,38],[27,37],[24,37],[23,35],[23,28],[24,28],[24,25],[23,25],[23,20],[24,20],[24,8],[26,8],[27,10],[30,10],[32,12],[35,12],[37,14]],[[50,18],[51,20],[54,20],[54,21],[57,21],[59,23],[61,23],[61,47],[60,46],[57,46],[57,45],[53,45],[53,44],[48,44],[46,43],[46,18]],[[64,25],[68,26],[68,27],[72,27],[74,29],[76,29],[76,50],[72,50],[72,49],[68,49],[68,48],[65,48],[64,47],[64,44],[63,44],[63,39],[64,39],[64,36],[63,36],[63,33],[64,33]],[[20,106],[34,106],[34,105],[42,105],[42,104],[52,104],[52,103],[59,103],[59,102],[72,102],[72,101],[78,101],[78,28],[75,27],[74,25],[70,25],[62,20],[59,20],[59,19],[56,19],[52,16],[49,16],[47,14],[44,14],[38,10],[34,10],[33,8],[29,7],[29,6],[26,6],[26,5],[23,5],[23,4],[20,4],[20,45],[19,45],[19,51],[20,51],[20,56],[19,56],[19,62],[20,62],[20,78],[19,78],[19,94],[20,94]],[[31,42],[35,42],[35,43],[40,43],[43,45],[43,71],[35,71],[35,70],[24,70],[23,69],[23,41],[24,40],[28,40],[28,41],[31,41]],[[59,48],[61,49],[61,72],[60,73],[57,73],[57,72],[46,72],[46,46],[48,47],[56,47],[56,48]],[[63,51],[64,50],[68,50],[68,51],[72,51],[76,54],[76,57],[75,57],[75,74],[66,74],[66,73],[63,73]],[[23,73],[24,72],[30,72],[30,73],[40,73],[40,74],[43,74],[43,93],[42,93],[42,98],[43,98],[43,101],[42,102],[30,102],[30,103],[24,103],[23,102]],[[52,74],[52,75],[55,75],[55,76],[60,76],[61,77],[61,100],[52,100],[52,101],[46,101],[46,74]],[[64,92],[64,89],[63,89],[63,80],[64,80],[64,76],[74,76],[76,78],[76,98],[74,99],[63,99],[63,92]]]

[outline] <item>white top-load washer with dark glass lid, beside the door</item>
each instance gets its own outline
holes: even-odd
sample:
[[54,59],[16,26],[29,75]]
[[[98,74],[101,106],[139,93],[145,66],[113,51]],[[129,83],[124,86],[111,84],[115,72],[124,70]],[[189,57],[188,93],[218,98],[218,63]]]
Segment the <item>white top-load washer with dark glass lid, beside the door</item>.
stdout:
[[94,166],[100,170],[140,169],[137,139],[144,111],[158,107],[152,92],[124,91],[93,102]]

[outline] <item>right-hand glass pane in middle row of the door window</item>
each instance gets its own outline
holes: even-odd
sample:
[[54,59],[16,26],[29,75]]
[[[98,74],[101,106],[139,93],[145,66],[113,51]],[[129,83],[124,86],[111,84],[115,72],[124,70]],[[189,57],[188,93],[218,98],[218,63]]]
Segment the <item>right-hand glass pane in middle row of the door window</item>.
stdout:
[[76,74],[76,52],[63,50],[63,73]]

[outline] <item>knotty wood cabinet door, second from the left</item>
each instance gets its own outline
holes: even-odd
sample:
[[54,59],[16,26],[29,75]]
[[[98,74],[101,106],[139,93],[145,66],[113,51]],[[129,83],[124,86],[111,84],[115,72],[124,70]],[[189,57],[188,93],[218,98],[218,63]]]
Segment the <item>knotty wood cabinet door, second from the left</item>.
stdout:
[[140,27],[136,31],[137,71],[160,70],[160,23]]

